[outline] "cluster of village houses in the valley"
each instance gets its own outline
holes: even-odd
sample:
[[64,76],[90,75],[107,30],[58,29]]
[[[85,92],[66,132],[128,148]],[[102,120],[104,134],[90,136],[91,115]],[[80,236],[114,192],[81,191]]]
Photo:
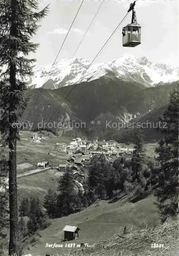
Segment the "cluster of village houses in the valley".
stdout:
[[[42,134],[33,134],[33,141],[35,143],[38,144],[43,140],[45,140],[45,136]],[[53,162],[49,161],[37,162],[38,169],[35,173],[43,172],[48,169],[56,169],[62,174],[67,168],[70,168],[73,172],[74,182],[82,193],[84,193],[83,181],[85,179],[83,167],[90,163],[90,160],[94,155],[100,156],[103,154],[106,161],[113,164],[116,158],[120,156],[131,157],[134,151],[132,146],[124,147],[112,140],[98,141],[95,139],[87,141],[85,138],[79,137],[72,138],[69,143],[57,142],[55,148],[59,153],[64,153],[67,156],[66,163],[61,163],[59,161],[58,165],[54,165]],[[30,171],[30,174],[31,172],[32,171]]]

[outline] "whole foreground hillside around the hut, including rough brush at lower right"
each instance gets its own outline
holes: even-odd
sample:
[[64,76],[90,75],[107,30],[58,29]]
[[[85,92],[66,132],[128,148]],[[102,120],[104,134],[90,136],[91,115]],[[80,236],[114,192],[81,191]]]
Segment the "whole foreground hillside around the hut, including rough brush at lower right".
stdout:
[[[81,231],[75,241],[62,242],[65,225],[78,226]],[[98,201],[85,210],[67,217],[52,220],[52,225],[40,232],[33,256],[54,253],[55,255],[83,255],[77,245],[88,243],[85,255],[170,255],[176,256],[177,222],[161,225],[154,197],[137,203],[127,203],[125,198],[116,203]],[[116,239],[126,226],[125,239]],[[63,248],[47,248],[48,244],[61,244]],[[75,243],[74,248],[65,244]],[[151,248],[152,243],[164,244],[164,248]],[[104,248],[106,245],[106,249]]]

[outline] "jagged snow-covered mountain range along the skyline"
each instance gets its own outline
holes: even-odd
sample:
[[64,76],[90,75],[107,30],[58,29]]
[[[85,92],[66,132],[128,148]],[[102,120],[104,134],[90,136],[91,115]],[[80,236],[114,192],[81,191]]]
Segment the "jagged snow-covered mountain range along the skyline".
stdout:
[[29,86],[56,89],[101,76],[118,77],[123,81],[138,82],[150,87],[179,80],[179,67],[152,63],[146,57],[136,58],[131,55],[92,65],[82,58],[63,59],[53,67],[48,65],[37,70]]

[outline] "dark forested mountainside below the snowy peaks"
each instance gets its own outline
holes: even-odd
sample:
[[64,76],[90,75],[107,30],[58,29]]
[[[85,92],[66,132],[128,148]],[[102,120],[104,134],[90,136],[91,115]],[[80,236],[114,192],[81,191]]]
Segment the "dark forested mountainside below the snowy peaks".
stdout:
[[[114,77],[100,77],[55,90],[43,88],[28,90],[27,95],[30,101],[22,115],[22,120],[33,123],[35,130],[38,123],[42,121],[50,125],[53,122],[59,122],[62,126],[64,122],[69,122],[69,129],[59,130],[57,127],[48,127],[48,130],[61,135],[65,134],[65,136],[76,134],[76,136],[99,138],[102,134],[104,137],[116,132],[121,134],[122,129],[120,131],[114,129],[115,127],[108,129],[110,126],[106,129],[106,122],[111,121],[122,125],[133,122],[134,119],[142,121],[147,117],[151,122],[153,119],[156,120],[159,113],[157,110],[168,102],[170,93],[176,86],[177,82],[173,82],[146,88],[136,82],[124,82]],[[36,102],[39,92],[40,97]],[[97,120],[101,125],[97,124]],[[92,121],[95,121],[95,125],[91,125]],[[75,125],[71,127],[71,123],[80,123],[80,129]],[[150,131],[150,133],[153,132]]]

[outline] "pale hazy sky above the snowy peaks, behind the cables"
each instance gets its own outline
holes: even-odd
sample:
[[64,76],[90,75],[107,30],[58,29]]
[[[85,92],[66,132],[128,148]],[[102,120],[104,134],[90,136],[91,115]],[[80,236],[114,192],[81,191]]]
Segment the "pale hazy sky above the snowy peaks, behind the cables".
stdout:
[[[71,58],[102,0],[85,0],[60,52],[58,61]],[[37,65],[53,63],[82,0],[39,0],[40,8],[49,6],[49,14],[33,41],[40,43],[35,56]],[[130,0],[105,0],[86,35],[76,57],[92,60],[129,9]],[[155,62],[179,66],[179,1],[138,0],[137,22],[142,26],[142,44],[122,47],[122,27],[131,23],[132,12],[123,21],[97,62],[112,61],[128,53],[146,56]]]

